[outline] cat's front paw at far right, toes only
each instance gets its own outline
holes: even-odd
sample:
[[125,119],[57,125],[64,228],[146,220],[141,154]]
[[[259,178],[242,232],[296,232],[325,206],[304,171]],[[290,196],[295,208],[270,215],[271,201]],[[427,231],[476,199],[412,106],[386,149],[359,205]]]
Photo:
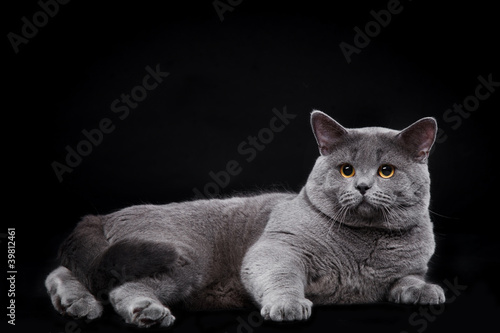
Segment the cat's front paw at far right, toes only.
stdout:
[[437,284],[422,283],[401,286],[391,290],[389,300],[403,304],[441,304],[445,301],[443,288]]

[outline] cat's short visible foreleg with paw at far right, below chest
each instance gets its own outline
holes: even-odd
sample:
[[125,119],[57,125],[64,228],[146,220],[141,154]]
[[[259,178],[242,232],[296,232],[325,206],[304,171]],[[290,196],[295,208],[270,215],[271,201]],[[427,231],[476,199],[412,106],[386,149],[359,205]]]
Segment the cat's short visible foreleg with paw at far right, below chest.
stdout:
[[391,287],[389,301],[404,304],[440,304],[444,303],[443,288],[437,284],[425,282],[423,277],[405,276]]

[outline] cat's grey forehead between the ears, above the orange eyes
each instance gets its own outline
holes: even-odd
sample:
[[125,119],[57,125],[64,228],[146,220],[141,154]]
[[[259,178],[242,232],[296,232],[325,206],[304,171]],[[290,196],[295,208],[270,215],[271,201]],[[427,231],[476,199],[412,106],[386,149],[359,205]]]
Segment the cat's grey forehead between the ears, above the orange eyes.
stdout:
[[336,159],[360,163],[388,163],[400,150],[395,144],[398,131],[383,127],[348,129],[344,144],[334,152]]

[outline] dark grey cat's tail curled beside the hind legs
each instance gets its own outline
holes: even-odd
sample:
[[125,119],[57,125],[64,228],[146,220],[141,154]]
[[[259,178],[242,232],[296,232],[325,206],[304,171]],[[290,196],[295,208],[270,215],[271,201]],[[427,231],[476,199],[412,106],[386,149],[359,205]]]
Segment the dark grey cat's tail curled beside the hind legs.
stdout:
[[110,244],[102,216],[87,215],[59,250],[61,265],[96,296],[141,277],[168,273],[179,254],[173,245],[144,240]]

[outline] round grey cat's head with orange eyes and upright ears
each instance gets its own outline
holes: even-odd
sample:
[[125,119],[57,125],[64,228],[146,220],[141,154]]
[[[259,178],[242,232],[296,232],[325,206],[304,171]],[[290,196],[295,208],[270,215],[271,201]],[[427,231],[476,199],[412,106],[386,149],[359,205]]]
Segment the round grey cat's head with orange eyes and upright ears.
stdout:
[[321,156],[306,192],[312,204],[339,223],[400,229],[427,216],[427,159],[436,137],[434,118],[402,131],[348,129],[321,111],[311,114]]

